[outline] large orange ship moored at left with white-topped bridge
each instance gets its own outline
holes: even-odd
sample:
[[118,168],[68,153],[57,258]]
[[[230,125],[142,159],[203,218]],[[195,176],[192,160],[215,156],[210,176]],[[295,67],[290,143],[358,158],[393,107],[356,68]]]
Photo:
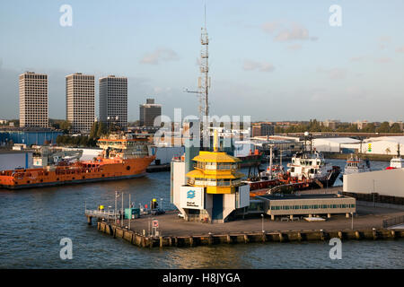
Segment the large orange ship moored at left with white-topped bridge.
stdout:
[[0,171],[0,187],[49,187],[100,180],[136,178],[155,159],[146,138],[110,135],[97,143],[101,155],[93,161],[58,161],[44,168]]

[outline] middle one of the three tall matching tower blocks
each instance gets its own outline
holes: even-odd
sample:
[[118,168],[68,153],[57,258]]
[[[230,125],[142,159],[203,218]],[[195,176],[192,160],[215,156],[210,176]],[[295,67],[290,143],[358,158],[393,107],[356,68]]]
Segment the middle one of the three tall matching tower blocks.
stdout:
[[74,133],[89,133],[95,120],[94,76],[88,74],[66,75],[66,120]]

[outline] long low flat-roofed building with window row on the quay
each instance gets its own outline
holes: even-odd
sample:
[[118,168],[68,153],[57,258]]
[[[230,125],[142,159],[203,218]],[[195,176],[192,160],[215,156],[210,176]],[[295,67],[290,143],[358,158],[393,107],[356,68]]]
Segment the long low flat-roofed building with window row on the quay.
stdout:
[[316,195],[268,195],[256,196],[265,202],[265,210],[271,216],[271,220],[275,220],[275,216],[289,216],[291,219],[294,215],[314,215],[345,213],[347,217],[350,213],[356,212],[356,199],[349,196],[341,196],[339,194],[316,194]]

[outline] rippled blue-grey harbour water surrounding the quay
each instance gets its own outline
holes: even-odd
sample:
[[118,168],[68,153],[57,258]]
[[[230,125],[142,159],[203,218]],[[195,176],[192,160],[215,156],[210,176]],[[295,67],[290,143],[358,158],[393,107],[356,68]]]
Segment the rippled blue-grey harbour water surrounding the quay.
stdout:
[[[344,166],[345,161],[333,160]],[[373,170],[388,162],[373,161]],[[246,171],[246,170],[244,170]],[[338,180],[336,185],[341,184]],[[347,241],[342,260],[327,242],[268,243],[199,248],[141,249],[88,226],[87,206],[114,205],[115,190],[145,204],[170,204],[170,172],[144,178],[0,192],[0,268],[404,268],[404,240]],[[73,259],[59,258],[59,241],[73,240]]]

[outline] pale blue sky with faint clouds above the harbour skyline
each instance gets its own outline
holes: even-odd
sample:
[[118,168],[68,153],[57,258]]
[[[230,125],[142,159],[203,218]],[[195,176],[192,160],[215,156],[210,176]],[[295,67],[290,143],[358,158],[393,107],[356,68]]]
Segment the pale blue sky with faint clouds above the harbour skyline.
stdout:
[[[63,4],[72,26],[60,25]],[[338,4],[341,25],[331,26]],[[18,74],[48,74],[66,118],[67,74],[128,78],[128,119],[154,98],[198,115],[200,30],[209,35],[211,115],[253,121],[404,120],[402,0],[22,1],[0,7],[0,118],[18,118]]]

